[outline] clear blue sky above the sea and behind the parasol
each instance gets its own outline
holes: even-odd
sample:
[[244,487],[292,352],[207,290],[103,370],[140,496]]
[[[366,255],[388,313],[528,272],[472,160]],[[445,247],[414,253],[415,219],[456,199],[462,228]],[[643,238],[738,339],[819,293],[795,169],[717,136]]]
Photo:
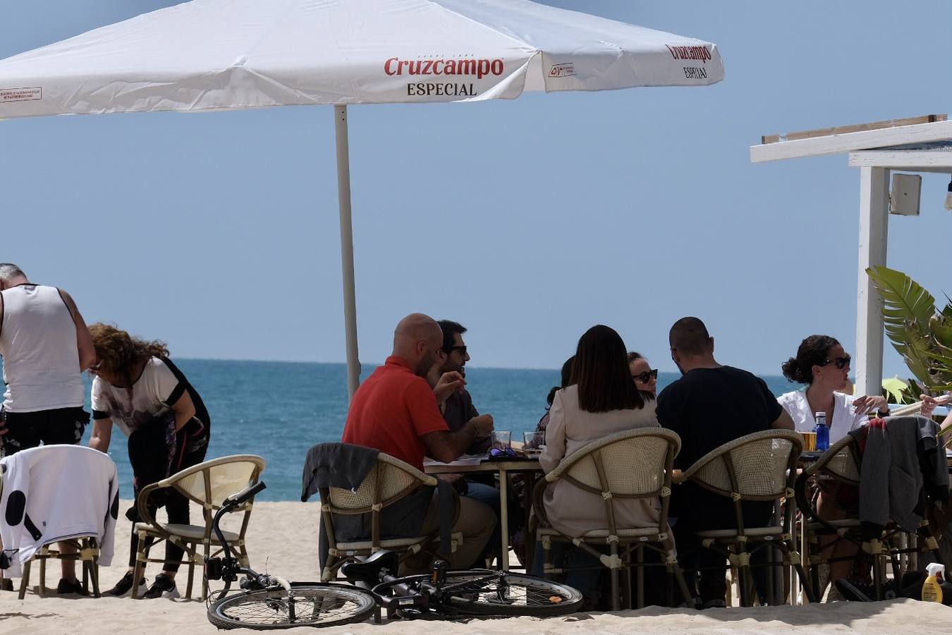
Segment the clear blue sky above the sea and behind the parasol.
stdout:
[[[0,58],[174,4],[10,0]],[[948,112],[952,3],[545,4],[715,42],[726,78],[350,107],[364,363],[411,311],[468,327],[477,367],[560,367],[602,323],[674,370],[685,315],[760,374],[815,332],[853,351],[858,169],[749,147]],[[0,122],[0,261],[176,357],[343,362],[333,134],[330,107]],[[889,223],[888,266],[938,298],[947,184],[923,175],[921,216]],[[884,371],[908,376],[891,348]]]

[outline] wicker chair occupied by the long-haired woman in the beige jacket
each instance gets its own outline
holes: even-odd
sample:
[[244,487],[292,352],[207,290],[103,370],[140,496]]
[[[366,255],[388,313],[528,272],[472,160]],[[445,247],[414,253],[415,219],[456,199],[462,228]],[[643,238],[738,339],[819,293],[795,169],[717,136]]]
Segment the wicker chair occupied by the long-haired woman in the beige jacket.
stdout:
[[[645,548],[664,556],[664,566],[674,574],[690,603],[691,596],[678,565],[674,539],[667,526],[667,507],[671,495],[671,473],[674,457],[681,449],[681,439],[663,427],[639,427],[617,432],[592,442],[566,456],[555,469],[545,475],[533,492],[533,508],[539,527],[536,536],[542,543],[546,577],[563,572],[551,564],[553,542],[572,543],[598,558],[611,572],[612,609],[619,610],[619,572],[630,569],[631,555],[637,557],[638,606],[645,605]],[[605,527],[586,531],[581,536],[566,536],[554,528],[545,514],[543,497],[547,486],[560,480],[599,496],[605,501],[605,516],[593,518],[592,526]],[[615,506],[620,501],[661,498],[661,514],[657,525],[643,527],[617,526]],[[607,546],[609,553],[595,548]],[[630,585],[628,605],[631,605]]]

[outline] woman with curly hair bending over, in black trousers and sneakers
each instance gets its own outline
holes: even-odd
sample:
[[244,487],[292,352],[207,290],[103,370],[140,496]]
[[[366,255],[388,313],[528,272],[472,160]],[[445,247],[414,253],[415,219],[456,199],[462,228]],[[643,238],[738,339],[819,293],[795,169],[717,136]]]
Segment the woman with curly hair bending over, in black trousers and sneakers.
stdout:
[[[169,360],[162,342],[146,342],[125,330],[106,324],[89,327],[96,363],[89,367],[92,381],[92,436],[89,446],[109,451],[112,425],[129,437],[135,498],[143,487],[205,459],[211,422],[202,398],[185,375]],[[162,500],[149,508],[165,506],[169,524],[188,525],[188,499],[177,490],[164,490]],[[126,513],[138,522],[135,506]],[[125,595],[132,588],[138,547],[132,533],[129,571],[107,593]],[[166,563],[144,598],[175,597],[175,573],[183,551],[166,542]],[[145,580],[140,581],[145,584]]]

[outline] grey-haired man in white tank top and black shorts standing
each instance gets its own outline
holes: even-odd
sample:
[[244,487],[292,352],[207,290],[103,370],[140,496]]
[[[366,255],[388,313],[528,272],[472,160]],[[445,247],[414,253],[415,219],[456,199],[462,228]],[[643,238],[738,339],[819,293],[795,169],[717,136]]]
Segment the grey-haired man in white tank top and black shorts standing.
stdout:
[[[0,456],[50,444],[78,444],[89,423],[82,372],[96,361],[89,328],[64,290],[34,285],[0,264],[0,356],[7,385],[0,409]],[[60,550],[70,547],[60,543]],[[64,560],[60,593],[83,592]]]

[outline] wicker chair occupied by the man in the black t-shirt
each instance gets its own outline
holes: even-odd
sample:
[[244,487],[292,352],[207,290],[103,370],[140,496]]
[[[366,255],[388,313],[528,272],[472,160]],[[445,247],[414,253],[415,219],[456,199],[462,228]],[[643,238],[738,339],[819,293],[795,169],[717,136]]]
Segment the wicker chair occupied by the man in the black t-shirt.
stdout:
[[807,597],[814,601],[791,535],[790,506],[783,507],[777,525],[765,527],[744,526],[742,506],[744,501],[776,502],[792,498],[802,447],[801,435],[793,430],[754,432],[708,452],[676,479],[678,483],[690,481],[733,501],[737,520],[735,528],[703,530],[696,534],[704,548],[724,553],[731,566],[737,567],[741,604],[744,606],[752,604],[750,554],[769,547],[783,553],[784,566],[796,567]]

